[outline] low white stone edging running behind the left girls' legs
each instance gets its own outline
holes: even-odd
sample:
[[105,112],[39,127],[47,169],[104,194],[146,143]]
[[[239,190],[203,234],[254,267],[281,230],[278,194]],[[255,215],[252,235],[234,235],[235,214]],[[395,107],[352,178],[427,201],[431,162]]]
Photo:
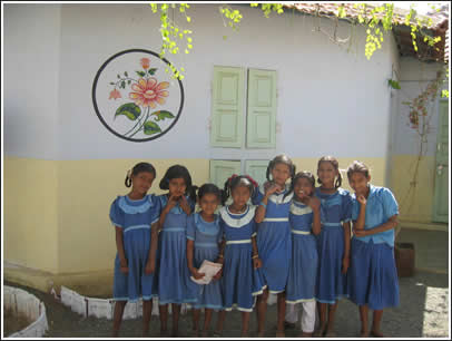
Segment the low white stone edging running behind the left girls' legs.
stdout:
[[[80,295],[79,293],[61,285],[61,303],[69,306],[73,312],[83,318],[95,316],[98,319],[112,320],[115,311],[114,299],[97,299]],[[189,309],[188,304],[183,304],[180,313],[185,314]],[[168,312],[171,312],[169,304]],[[158,315],[158,299],[153,299],[153,315]],[[128,302],[124,310],[122,320],[132,320],[143,316],[143,300],[131,303]]]

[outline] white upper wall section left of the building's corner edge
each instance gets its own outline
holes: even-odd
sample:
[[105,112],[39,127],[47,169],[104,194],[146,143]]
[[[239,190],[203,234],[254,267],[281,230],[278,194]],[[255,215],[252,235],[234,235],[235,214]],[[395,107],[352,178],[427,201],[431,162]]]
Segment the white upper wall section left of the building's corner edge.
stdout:
[[61,4],[3,9],[4,154],[56,159]]

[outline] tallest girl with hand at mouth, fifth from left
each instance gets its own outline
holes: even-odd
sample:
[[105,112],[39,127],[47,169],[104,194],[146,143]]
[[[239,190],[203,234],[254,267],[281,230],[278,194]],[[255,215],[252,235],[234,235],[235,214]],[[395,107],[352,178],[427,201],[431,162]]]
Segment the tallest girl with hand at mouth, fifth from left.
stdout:
[[[272,176],[272,177],[271,177]],[[276,156],[267,167],[267,182],[259,186],[253,203],[256,210],[257,247],[263,262],[262,272],[267,290],[257,299],[257,334],[265,334],[265,315],[268,292],[277,294],[277,332],[284,337],[284,319],[286,310],[285,289],[288,279],[288,264],[292,254],[291,225],[288,212],[293,197],[295,165],[285,155]]]

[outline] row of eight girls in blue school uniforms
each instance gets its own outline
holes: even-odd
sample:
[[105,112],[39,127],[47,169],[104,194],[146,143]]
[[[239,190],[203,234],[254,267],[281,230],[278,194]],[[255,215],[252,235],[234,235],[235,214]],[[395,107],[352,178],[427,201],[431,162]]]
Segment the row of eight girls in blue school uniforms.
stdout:
[[[147,194],[155,168],[137,164],[126,177],[131,191],[110,207],[118,250],[114,337],[126,303],[140,298],[143,334],[148,335],[151,299],[158,296],[161,337],[167,335],[168,304],[171,337],[178,337],[180,305],[189,303],[194,337],[208,337],[214,310],[214,335],[220,337],[233,309],[242,312],[242,337],[247,337],[256,306],[257,337],[263,338],[269,293],[277,294],[276,337],[297,321],[298,305],[299,337],[335,337],[342,298],[358,305],[361,337],[383,337],[383,309],[399,305],[393,254],[397,203],[390,189],[370,183],[363,163],[354,162],[347,177],[354,194],[341,188],[338,163],[325,156],[317,164],[316,187],[313,174],[296,173],[293,162],[279,155],[269,163],[264,184],[233,175],[220,191],[214,184],[197,188],[186,167],[175,165],[159,184],[168,193],[156,196]],[[209,284],[197,284],[190,277],[205,276],[199,271],[205,260],[222,269]],[[371,329],[369,309],[374,310]]]

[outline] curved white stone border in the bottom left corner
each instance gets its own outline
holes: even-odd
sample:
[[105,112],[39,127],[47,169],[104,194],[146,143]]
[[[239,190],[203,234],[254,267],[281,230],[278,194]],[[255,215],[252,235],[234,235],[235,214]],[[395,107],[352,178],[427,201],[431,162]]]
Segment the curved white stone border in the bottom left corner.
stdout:
[[6,338],[42,338],[49,329],[46,305],[22,289],[3,285],[3,306],[35,321],[21,331],[4,335]]

